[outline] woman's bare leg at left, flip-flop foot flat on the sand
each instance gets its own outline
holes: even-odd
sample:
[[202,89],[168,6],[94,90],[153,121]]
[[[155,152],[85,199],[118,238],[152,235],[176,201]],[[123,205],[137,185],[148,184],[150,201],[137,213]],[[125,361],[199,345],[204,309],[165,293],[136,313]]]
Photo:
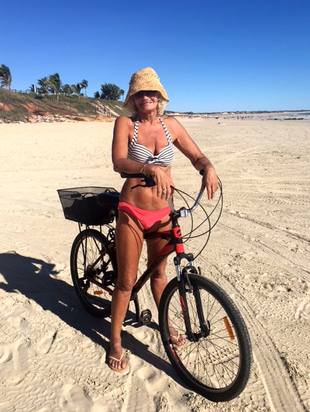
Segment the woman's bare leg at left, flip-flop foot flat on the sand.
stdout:
[[[123,370],[126,368],[126,359],[122,358],[122,324],[129,306],[131,290],[136,281],[143,244],[143,231],[139,222],[123,211],[119,211],[115,241],[118,276],[111,303],[111,347],[108,364]],[[117,359],[121,360],[117,361]]]

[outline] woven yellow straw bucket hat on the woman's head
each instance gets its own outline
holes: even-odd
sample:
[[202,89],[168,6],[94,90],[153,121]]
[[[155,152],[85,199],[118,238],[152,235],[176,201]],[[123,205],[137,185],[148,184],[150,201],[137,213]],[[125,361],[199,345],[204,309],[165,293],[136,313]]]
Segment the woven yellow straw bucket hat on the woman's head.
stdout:
[[141,92],[142,90],[156,90],[161,93],[161,97],[169,101],[167,93],[159,81],[159,77],[151,67],[146,67],[139,72],[133,73],[129,81],[129,90],[124,101],[124,106],[129,102],[133,94]]

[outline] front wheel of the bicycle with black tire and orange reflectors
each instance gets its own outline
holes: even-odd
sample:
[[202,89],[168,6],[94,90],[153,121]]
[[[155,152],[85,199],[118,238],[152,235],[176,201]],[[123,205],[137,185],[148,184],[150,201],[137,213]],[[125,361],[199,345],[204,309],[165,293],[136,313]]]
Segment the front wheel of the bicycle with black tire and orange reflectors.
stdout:
[[[250,336],[238,308],[220,286],[198,274],[189,274],[188,278],[193,290],[199,290],[209,336],[193,342],[188,340],[179,282],[175,278],[166,286],[159,305],[163,346],[172,366],[189,388],[213,402],[226,402],[243,391],[250,377]],[[186,300],[192,331],[198,333],[201,328],[197,307],[188,288]],[[170,328],[186,339],[183,347],[172,343],[168,320]]]

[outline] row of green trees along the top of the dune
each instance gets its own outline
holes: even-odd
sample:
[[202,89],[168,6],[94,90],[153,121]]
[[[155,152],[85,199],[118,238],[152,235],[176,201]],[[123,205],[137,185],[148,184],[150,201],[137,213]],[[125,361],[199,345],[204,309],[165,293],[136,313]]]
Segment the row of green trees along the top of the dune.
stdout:
[[[11,90],[12,76],[10,69],[6,65],[0,66],[0,86]],[[49,76],[38,79],[37,84],[30,86],[30,92],[38,94],[54,94],[56,99],[59,99],[60,94],[76,94],[79,98],[82,95],[81,90],[85,89],[85,97],[87,97],[86,90],[88,88],[88,81],[83,79],[76,84],[63,84],[58,73],[50,74]],[[119,100],[124,96],[124,90],[120,89],[113,83],[105,83],[101,85],[100,92],[94,93],[96,99]]]

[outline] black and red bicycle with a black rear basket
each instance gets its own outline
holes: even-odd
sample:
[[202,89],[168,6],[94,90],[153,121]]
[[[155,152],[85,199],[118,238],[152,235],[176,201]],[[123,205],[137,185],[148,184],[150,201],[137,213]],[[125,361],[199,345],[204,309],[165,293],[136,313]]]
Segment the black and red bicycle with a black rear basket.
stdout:
[[[145,185],[138,186],[154,186],[152,179],[142,174],[122,176],[140,177]],[[117,219],[119,193],[114,188],[91,187],[58,190],[58,195],[65,217],[79,223],[79,234],[74,239],[70,255],[74,289],[89,313],[107,317],[111,315],[111,297],[117,277],[113,222]],[[137,279],[131,301],[136,308],[137,322],[149,323],[152,313],[148,309],[140,312],[138,292],[158,265],[175,252],[173,261],[177,277],[165,287],[158,308],[159,330],[165,352],[189,388],[213,402],[226,402],[240,395],[247,384],[252,347],[247,327],[234,302],[218,284],[202,276],[200,268],[194,265],[193,254],[184,251],[178,220],[191,215],[201,197],[202,192],[199,192],[193,206],[179,210],[170,200],[170,233],[145,235],[145,238],[158,236],[167,243]],[[221,184],[219,202],[221,212]],[[82,230],[83,224],[85,229]],[[99,226],[99,230],[90,226]],[[209,221],[206,233],[210,234],[213,226]],[[172,343],[172,327],[178,336],[186,339],[186,345],[181,347],[175,341]]]

